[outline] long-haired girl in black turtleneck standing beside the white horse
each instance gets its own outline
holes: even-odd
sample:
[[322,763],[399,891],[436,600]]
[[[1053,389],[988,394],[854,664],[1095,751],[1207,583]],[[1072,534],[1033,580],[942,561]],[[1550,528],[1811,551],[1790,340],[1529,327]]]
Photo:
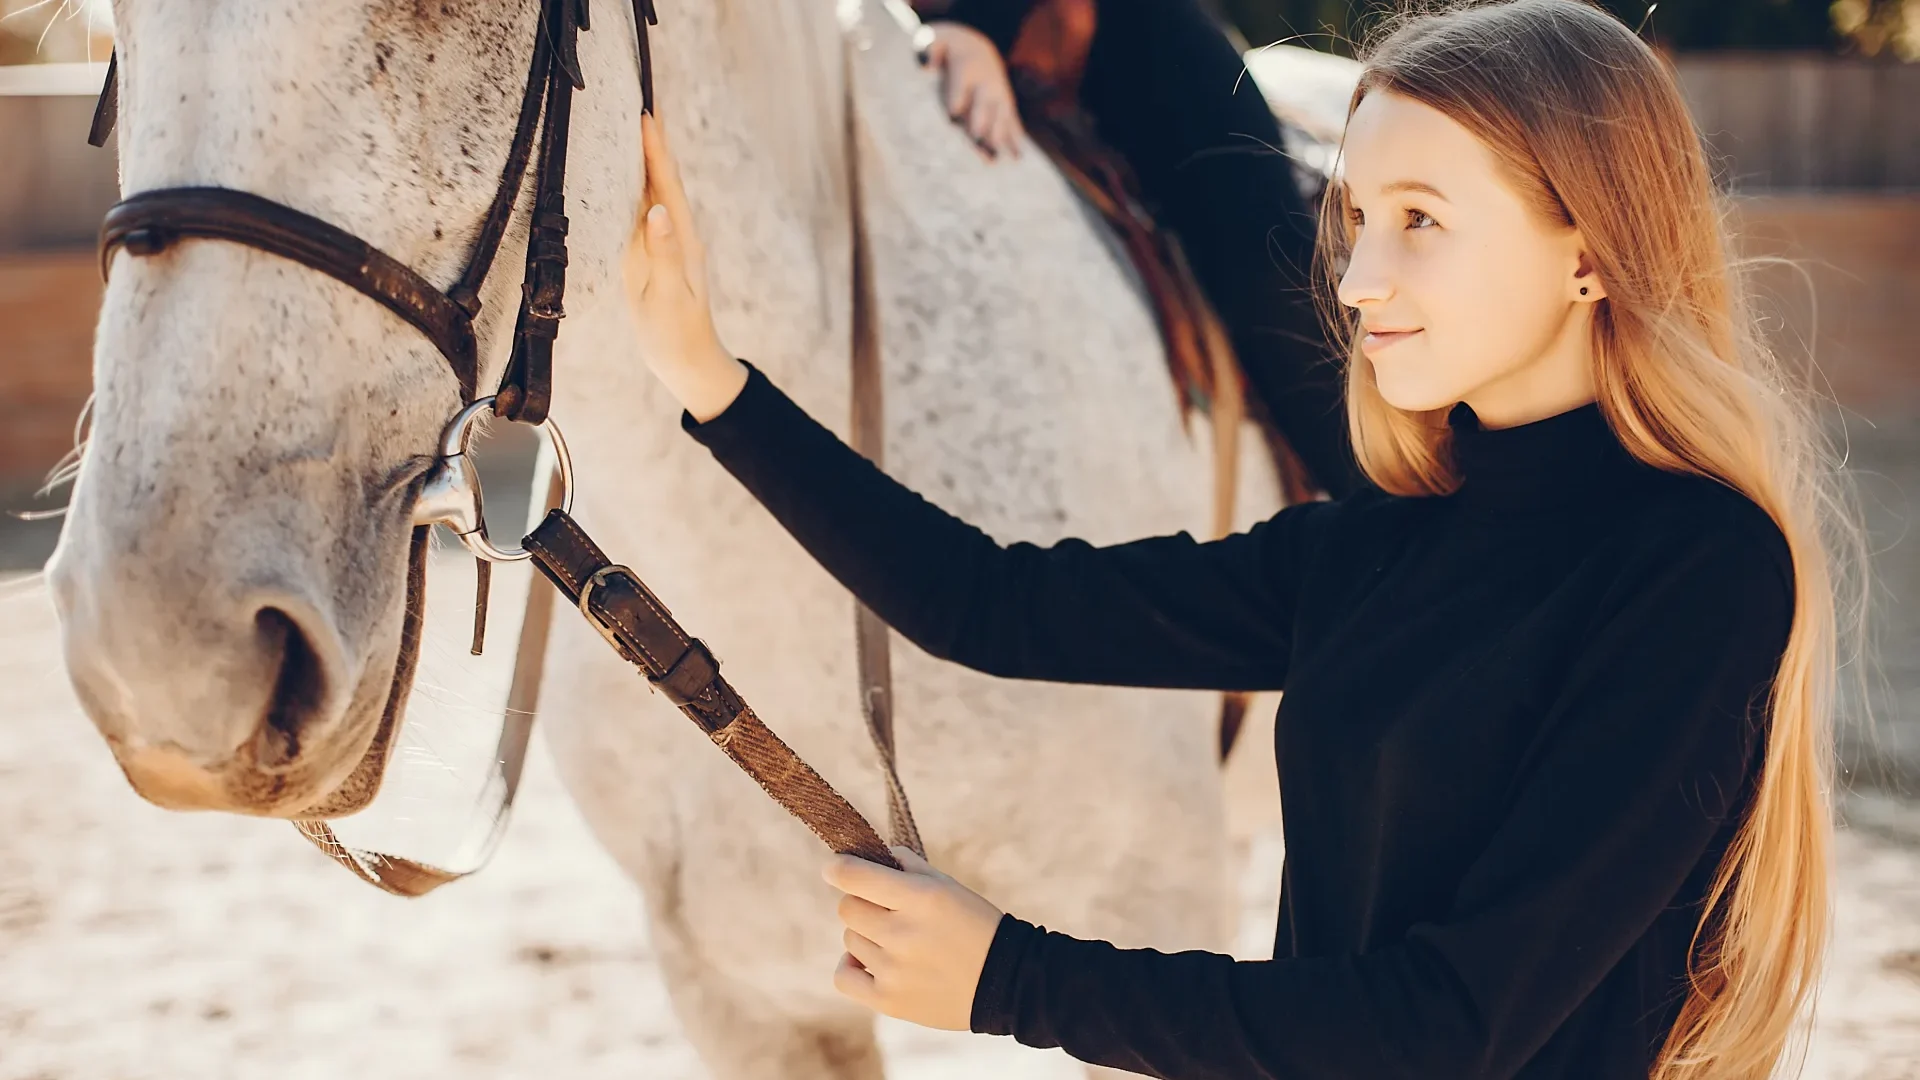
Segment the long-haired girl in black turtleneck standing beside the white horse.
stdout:
[[1271,961],[837,859],[847,995],[1154,1076],[1768,1076],[1828,932],[1832,503],[1626,27],[1511,0],[1371,50],[1323,250],[1377,488],[1212,544],[998,546],[889,480],[720,346],[647,154],[645,354],[862,601],[1010,678],[1286,692]]

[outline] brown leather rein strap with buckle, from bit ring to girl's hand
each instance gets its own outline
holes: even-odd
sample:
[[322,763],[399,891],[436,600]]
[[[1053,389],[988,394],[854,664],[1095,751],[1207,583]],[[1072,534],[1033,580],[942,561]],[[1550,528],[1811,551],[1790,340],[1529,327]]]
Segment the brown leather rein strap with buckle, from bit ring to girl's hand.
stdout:
[[526,550],[622,659],[828,847],[899,869],[860,811],[760,723],[707,646],[674,621],[634,571],[609,561],[572,517],[549,511],[526,536]]

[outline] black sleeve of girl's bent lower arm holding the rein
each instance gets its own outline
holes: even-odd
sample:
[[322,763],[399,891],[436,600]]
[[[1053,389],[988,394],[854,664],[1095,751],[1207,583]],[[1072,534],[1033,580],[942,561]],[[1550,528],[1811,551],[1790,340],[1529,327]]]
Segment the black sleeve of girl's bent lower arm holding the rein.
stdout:
[[1150,1076],[1513,1076],[1738,821],[1791,626],[1774,538],[1701,544],[1597,613],[1442,917],[1361,955],[1275,961],[1006,917],[973,1030]]

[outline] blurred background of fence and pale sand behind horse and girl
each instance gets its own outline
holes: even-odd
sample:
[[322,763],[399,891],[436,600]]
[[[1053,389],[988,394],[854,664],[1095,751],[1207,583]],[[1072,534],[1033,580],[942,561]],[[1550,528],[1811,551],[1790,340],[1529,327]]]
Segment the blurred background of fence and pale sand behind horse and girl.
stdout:
[[[1250,48],[1327,52],[1350,52],[1398,8],[1213,2]],[[1826,992],[1834,1019],[1811,1074],[1910,1080],[1920,1076],[1920,0],[1607,8],[1672,56],[1736,200],[1743,250],[1789,259],[1761,271],[1768,327],[1830,386],[1826,415],[1860,490],[1874,542],[1874,663],[1841,728],[1841,945]],[[284,826],[144,807],[94,746],[60,673],[52,619],[31,594],[60,528],[58,517],[35,517],[63,500],[42,484],[73,448],[90,390],[92,244],[117,181],[113,152],[86,146],[86,129],[109,50],[104,0],[0,0],[0,1080],[697,1076],[653,974],[637,897],[543,755],[499,865],[409,907],[349,882]],[[1235,769],[1242,790],[1271,786],[1271,761],[1265,774],[1258,761]],[[1242,828],[1248,911],[1271,926],[1271,821]],[[1258,934],[1246,945],[1258,951]],[[914,1076],[1073,1074],[1058,1061],[954,1057],[895,1028],[887,1038],[900,1061],[918,1063]]]

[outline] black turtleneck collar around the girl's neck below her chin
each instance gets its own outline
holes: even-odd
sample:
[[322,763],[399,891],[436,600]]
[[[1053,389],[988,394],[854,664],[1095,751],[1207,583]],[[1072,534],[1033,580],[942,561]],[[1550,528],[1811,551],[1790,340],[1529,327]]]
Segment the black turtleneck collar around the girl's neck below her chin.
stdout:
[[1500,513],[1565,509],[1592,503],[1642,471],[1613,436],[1597,404],[1528,425],[1488,430],[1465,402],[1448,415],[1455,494],[1463,507]]

